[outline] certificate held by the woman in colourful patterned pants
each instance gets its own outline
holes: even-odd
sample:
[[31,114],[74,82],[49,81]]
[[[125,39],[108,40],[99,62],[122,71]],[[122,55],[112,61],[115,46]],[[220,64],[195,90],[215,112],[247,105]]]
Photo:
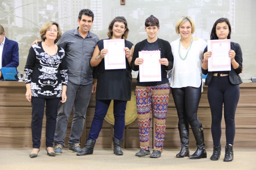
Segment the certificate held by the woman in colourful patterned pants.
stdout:
[[139,65],[140,82],[161,81],[160,51],[140,51],[139,57],[143,64]]

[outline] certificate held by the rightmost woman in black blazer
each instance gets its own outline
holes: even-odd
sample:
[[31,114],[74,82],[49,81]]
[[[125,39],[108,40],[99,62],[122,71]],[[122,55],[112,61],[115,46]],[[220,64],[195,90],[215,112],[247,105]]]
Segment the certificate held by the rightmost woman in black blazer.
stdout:
[[230,51],[230,39],[208,40],[207,49],[212,52],[208,59],[208,71],[230,71],[231,61],[228,53]]

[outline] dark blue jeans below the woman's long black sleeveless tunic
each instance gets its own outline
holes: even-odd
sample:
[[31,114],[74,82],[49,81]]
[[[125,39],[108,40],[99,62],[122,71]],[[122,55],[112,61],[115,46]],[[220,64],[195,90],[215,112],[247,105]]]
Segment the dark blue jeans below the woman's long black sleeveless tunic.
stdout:
[[[93,122],[90,127],[90,133],[87,139],[98,139],[99,132],[102,129],[103,120],[108,112],[108,107],[111,100],[96,100],[95,113]],[[114,137],[122,140],[125,129],[125,109],[127,101],[114,100],[113,114],[115,118],[114,123]]]

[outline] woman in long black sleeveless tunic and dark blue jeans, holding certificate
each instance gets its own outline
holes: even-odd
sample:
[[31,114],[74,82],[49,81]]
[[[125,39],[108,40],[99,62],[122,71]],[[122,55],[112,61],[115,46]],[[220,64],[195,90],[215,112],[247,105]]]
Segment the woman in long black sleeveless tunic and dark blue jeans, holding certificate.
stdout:
[[[114,153],[123,155],[121,150],[123,133],[125,129],[125,109],[127,101],[131,100],[131,55],[130,49],[133,44],[127,41],[128,26],[125,17],[115,17],[108,27],[108,39],[125,39],[125,65],[123,69],[105,69],[105,55],[108,49],[104,47],[104,40],[99,40],[97,43],[93,57],[90,60],[92,67],[98,67],[98,79],[96,87],[96,106],[93,117],[93,122],[90,127],[90,133],[87,137],[84,148],[77,153],[78,156],[88,155],[93,153],[93,147],[99,132],[102,128],[103,120],[107,114],[111,100],[113,100],[114,122]],[[120,56],[121,57],[121,56]]]

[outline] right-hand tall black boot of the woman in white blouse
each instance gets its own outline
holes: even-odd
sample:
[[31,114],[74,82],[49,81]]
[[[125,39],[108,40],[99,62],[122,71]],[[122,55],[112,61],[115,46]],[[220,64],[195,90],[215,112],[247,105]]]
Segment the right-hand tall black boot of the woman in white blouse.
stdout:
[[207,158],[207,153],[204,144],[204,130],[202,124],[198,127],[191,127],[191,129],[195,136],[197,150],[193,155],[189,155],[188,157],[191,159]]

